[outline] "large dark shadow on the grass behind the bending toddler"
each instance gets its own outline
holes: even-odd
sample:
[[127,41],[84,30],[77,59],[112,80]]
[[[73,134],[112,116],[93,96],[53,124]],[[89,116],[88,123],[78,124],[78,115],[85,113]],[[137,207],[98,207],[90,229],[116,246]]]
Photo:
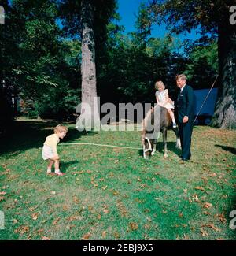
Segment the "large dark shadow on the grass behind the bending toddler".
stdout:
[[[8,135],[2,138],[0,155],[10,154],[10,157],[14,157],[22,151],[42,147],[46,136],[53,134],[53,128],[57,124],[58,121],[14,121]],[[87,132],[87,135],[94,135],[95,133]],[[83,135],[86,133],[69,128],[68,134],[65,139],[61,139],[61,142],[68,143]]]

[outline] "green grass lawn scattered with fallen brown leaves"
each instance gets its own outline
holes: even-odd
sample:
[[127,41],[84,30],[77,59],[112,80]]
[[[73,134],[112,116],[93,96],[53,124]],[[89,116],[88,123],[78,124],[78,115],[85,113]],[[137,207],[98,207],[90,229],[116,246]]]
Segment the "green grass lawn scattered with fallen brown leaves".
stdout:
[[16,121],[0,148],[0,239],[235,239],[236,132],[194,127],[191,161],[179,160],[168,133],[168,158],[142,150],[141,132],[77,132],[58,146],[61,171],[46,176],[42,143],[53,121]]

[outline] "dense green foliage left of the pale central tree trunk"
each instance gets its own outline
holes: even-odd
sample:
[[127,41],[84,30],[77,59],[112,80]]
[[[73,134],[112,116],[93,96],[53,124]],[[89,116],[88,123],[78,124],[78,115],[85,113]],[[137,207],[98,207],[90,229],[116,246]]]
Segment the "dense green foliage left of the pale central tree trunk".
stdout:
[[[79,103],[80,44],[62,40],[50,0],[13,1],[4,27],[4,79],[29,104],[28,114],[67,118]],[[5,56],[4,56],[5,57]],[[76,84],[77,83],[77,84]]]

